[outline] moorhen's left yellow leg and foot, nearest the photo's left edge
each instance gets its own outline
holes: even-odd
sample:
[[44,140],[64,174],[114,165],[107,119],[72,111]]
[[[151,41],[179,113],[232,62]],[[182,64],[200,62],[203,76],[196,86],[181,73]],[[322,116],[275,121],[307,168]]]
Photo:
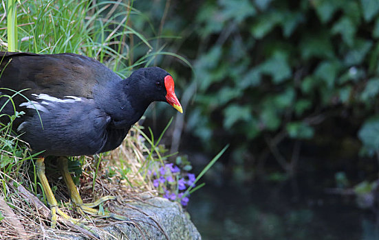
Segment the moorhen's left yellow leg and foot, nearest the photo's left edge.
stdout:
[[49,203],[50,209],[52,211],[52,228],[56,227],[56,218],[57,218],[56,213],[58,213],[59,215],[61,215],[67,220],[77,223],[78,221],[76,219],[69,217],[69,215],[63,213],[63,211],[61,211],[61,209],[58,208],[58,202],[56,202],[52,189],[50,188],[49,182],[47,181],[47,178],[45,176],[44,160],[45,158],[38,158],[36,160],[36,172],[37,172],[39,181],[41,182],[43,191],[45,192],[45,195],[47,197],[47,202]]

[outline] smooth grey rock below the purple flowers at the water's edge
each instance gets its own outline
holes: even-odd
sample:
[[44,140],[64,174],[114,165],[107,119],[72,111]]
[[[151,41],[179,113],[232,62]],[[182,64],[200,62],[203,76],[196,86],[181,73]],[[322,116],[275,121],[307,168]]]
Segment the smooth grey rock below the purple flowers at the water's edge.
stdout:
[[[126,208],[114,206],[116,213],[129,217],[127,223],[95,228],[100,239],[151,239],[200,240],[202,237],[189,215],[177,202],[162,197],[151,197],[143,202],[133,202]],[[68,237],[68,236],[65,236]],[[86,239],[72,237],[71,239]]]

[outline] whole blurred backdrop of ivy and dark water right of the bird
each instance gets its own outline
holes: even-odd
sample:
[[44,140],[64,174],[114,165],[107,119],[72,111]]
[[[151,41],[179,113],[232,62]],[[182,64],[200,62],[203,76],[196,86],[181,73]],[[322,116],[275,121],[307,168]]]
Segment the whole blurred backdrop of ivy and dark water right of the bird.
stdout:
[[[230,144],[188,204],[204,239],[379,239],[379,1],[134,7],[151,21],[133,26],[193,66],[155,60],[184,105],[166,145],[199,173]],[[171,112],[144,125],[159,134]]]

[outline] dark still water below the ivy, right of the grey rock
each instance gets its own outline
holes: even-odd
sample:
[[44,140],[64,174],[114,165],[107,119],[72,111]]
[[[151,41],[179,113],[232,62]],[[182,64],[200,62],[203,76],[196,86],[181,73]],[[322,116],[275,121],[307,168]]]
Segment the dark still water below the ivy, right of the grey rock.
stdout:
[[191,195],[188,212],[204,240],[379,239],[375,211],[354,197],[289,186],[208,184]]

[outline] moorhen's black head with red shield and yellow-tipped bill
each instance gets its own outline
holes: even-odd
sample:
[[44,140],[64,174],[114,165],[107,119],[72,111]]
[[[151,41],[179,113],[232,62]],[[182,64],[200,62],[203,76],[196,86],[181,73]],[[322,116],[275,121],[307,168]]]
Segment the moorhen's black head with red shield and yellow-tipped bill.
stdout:
[[138,69],[131,74],[131,78],[138,77],[138,87],[149,101],[166,101],[180,113],[182,106],[175,95],[173,77],[159,67]]

